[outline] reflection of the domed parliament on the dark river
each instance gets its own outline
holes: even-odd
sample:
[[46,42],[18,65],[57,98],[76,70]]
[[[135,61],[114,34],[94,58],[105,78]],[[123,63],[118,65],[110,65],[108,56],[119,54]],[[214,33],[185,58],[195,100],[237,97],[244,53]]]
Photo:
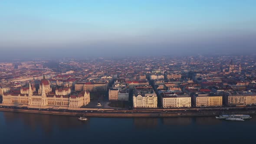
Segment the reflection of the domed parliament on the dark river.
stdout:
[[54,128],[63,130],[78,128],[81,125],[89,126],[89,121],[78,121],[75,116],[3,112],[3,118],[6,125],[21,122],[26,128],[30,128],[32,131],[41,128],[47,134],[51,133]]

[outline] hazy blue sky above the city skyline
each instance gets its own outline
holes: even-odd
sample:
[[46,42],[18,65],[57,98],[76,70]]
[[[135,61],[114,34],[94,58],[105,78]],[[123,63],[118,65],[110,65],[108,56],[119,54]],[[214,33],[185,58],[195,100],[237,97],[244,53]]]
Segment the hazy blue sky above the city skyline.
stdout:
[[256,0],[0,0],[6,58],[251,54]]

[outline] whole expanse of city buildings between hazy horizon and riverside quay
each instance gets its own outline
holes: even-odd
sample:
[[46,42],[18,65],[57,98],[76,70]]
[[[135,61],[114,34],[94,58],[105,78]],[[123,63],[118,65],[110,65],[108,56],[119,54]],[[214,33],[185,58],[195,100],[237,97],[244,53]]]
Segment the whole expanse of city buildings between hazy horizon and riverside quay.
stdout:
[[0,62],[0,105],[175,109],[256,105],[255,56]]

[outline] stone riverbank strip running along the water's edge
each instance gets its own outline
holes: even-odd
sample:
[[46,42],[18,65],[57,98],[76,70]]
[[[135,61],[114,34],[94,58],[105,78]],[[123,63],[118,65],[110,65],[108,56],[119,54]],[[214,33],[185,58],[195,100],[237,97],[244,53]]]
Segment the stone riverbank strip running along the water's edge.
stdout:
[[206,109],[200,111],[49,111],[49,110],[32,110],[32,109],[18,109],[18,108],[0,108],[0,111],[12,111],[12,112],[23,112],[23,113],[34,113],[34,114],[47,114],[47,115],[72,115],[87,117],[186,117],[186,116],[211,116],[220,114],[247,114],[255,115],[256,109],[251,108],[245,110],[241,108],[233,108],[228,110],[217,110],[217,109]]

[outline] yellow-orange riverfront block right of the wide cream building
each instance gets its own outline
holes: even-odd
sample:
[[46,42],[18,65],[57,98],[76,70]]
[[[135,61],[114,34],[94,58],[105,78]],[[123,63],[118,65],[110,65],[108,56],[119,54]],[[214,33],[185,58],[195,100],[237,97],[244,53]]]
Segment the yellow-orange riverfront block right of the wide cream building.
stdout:
[[222,106],[222,96],[201,92],[192,96],[192,104],[195,107]]

